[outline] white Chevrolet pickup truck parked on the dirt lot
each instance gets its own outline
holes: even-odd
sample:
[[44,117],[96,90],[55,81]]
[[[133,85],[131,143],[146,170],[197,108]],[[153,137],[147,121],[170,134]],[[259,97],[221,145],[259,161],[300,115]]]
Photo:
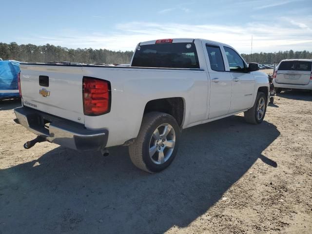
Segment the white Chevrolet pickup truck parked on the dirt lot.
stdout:
[[205,39],[140,42],[130,67],[20,64],[16,122],[75,150],[129,146],[132,162],[156,173],[174,160],[182,129],[244,112],[261,123],[269,82],[257,63]]

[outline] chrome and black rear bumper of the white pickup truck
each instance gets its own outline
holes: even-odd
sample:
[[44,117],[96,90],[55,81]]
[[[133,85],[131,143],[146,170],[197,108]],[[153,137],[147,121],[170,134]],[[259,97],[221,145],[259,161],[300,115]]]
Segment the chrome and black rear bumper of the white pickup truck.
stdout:
[[[100,150],[106,146],[106,129],[89,130],[82,124],[27,107],[16,108],[14,112],[22,126],[47,141],[74,150]],[[49,126],[45,127],[47,123]]]

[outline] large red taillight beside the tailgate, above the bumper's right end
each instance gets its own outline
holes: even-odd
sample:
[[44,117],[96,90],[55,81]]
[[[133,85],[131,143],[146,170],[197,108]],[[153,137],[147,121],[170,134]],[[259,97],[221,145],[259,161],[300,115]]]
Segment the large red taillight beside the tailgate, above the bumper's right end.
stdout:
[[83,77],[83,113],[86,116],[99,116],[111,110],[111,84],[107,80]]

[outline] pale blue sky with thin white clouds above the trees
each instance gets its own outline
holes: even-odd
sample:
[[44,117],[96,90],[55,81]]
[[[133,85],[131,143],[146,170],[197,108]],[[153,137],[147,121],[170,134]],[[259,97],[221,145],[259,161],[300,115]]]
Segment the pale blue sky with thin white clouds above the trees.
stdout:
[[312,51],[312,0],[0,0],[0,42],[133,51],[203,38],[240,53]]

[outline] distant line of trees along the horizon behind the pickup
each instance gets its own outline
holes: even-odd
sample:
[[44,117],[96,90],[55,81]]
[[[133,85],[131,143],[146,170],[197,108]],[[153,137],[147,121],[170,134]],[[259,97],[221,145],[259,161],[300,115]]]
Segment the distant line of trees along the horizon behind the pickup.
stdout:
[[[0,58],[24,62],[71,61],[81,63],[130,63],[133,51],[111,51],[106,49],[69,49],[55,45],[33,45],[16,42],[0,43]],[[283,59],[312,59],[309,51],[278,51],[274,53],[242,54],[246,62],[260,64],[279,63]]]

